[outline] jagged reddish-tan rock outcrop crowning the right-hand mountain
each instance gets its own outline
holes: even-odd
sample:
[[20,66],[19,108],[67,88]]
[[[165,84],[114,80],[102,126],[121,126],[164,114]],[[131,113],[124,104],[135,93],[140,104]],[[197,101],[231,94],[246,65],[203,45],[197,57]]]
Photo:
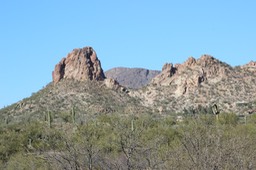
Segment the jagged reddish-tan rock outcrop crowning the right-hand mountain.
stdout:
[[209,55],[203,55],[199,59],[190,57],[183,64],[165,64],[162,72],[152,80],[152,84],[160,86],[176,85],[183,88],[182,93],[188,89],[198,87],[202,82],[219,81],[225,77],[231,67]]

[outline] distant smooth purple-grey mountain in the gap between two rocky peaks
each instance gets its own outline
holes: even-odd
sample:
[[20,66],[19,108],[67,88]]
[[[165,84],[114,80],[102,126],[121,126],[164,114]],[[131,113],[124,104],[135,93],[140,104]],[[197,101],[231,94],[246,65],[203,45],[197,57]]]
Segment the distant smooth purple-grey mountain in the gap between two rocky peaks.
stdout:
[[120,85],[132,89],[146,86],[158,74],[160,71],[157,70],[125,67],[116,67],[105,72],[107,78],[115,79]]

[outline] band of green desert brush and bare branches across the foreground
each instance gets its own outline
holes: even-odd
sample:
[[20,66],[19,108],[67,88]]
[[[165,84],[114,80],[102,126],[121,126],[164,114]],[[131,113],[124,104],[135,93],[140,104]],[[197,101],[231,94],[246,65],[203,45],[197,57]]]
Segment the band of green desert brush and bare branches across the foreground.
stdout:
[[[49,119],[49,120],[48,120]],[[256,116],[109,114],[1,126],[1,169],[255,169]]]

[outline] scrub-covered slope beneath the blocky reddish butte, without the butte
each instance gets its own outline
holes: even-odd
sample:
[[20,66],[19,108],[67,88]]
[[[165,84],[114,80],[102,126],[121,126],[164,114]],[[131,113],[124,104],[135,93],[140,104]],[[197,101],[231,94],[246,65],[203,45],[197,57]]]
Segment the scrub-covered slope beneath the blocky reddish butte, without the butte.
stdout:
[[61,122],[75,111],[76,121],[81,122],[89,115],[148,111],[139,103],[126,92],[106,87],[104,82],[63,80],[58,85],[50,83],[31,97],[1,109],[0,121],[10,124],[44,120],[50,112],[55,121]]

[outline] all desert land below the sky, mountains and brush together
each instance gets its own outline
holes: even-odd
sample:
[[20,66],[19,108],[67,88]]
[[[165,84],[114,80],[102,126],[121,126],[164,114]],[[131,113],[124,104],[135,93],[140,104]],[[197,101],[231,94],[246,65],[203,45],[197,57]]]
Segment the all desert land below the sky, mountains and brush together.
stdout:
[[256,169],[255,101],[253,61],[104,73],[92,47],[74,49],[0,110],[0,169]]

